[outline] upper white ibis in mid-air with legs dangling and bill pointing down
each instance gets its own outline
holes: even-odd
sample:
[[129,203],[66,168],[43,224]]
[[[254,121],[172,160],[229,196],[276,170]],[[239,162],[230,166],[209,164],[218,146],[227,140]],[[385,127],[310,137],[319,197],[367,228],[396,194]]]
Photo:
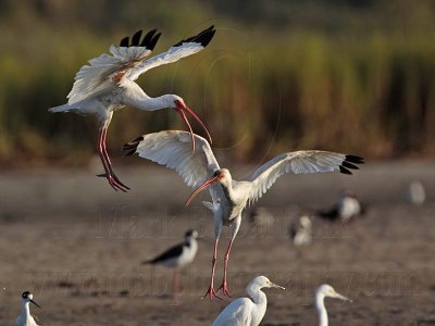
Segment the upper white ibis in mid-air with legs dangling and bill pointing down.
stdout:
[[[161,34],[156,34],[153,29],[141,38],[141,30],[138,30],[130,41],[128,37],[125,37],[119,47],[112,45],[109,49],[112,55],[101,54],[91,59],[89,65],[84,65],[75,76],[73,89],[67,96],[67,104],[49,109],[50,112],[74,112],[97,116],[100,128],[98,152],[105,172],[99,176],[105,177],[113,189],[122,191],[129,189],[114,174],[105,148],[107,131],[113,112],[125,105],[144,111],[174,109],[185,121],[194,137],[186,117],[188,114],[202,126],[211,141],[204,124],[181,97],[164,95],[150,98],[134,80],[153,67],[201,51],[211,41],[214,33],[214,26],[210,26],[198,35],[177,42],[166,52],[145,60],[154,49]],[[195,142],[192,142],[192,148],[195,150]]]

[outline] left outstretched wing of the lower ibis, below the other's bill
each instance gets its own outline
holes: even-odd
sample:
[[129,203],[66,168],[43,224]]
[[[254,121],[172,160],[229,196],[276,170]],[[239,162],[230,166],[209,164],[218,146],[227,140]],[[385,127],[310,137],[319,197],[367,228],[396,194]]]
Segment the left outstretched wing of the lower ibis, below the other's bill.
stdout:
[[[124,145],[123,150],[125,155],[137,153],[140,158],[175,170],[188,186],[196,188],[220,167],[209,142],[198,135],[195,135],[195,142],[197,147],[192,152],[189,133],[164,130],[144,135]],[[214,197],[216,190],[213,186],[210,188],[214,201],[217,199]]]

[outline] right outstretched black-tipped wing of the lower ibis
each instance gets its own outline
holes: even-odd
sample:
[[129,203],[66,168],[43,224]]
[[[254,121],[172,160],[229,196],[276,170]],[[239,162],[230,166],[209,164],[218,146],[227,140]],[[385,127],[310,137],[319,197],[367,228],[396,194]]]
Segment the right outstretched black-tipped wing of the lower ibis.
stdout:
[[285,173],[302,174],[319,172],[340,172],[352,174],[350,170],[358,170],[355,164],[364,163],[363,159],[353,155],[326,151],[297,151],[281,154],[260,166],[247,180],[252,183],[249,202],[254,202],[276,179]]

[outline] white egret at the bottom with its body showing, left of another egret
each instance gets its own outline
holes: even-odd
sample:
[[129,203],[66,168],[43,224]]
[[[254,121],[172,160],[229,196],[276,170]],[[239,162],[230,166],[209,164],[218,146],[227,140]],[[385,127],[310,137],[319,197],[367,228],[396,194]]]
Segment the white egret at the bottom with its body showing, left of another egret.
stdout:
[[238,298],[229,303],[214,319],[213,326],[257,326],[268,309],[268,298],[262,288],[284,287],[273,284],[265,276],[257,276],[246,288],[249,298]]

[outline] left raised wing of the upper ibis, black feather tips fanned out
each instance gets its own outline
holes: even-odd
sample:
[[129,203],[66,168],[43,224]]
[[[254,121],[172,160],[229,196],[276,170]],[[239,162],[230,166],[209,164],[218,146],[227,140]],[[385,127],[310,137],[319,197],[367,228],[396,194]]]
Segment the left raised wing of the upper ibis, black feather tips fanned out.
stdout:
[[96,95],[110,85],[117,85],[124,75],[139,65],[144,59],[151,53],[159,40],[160,33],[150,30],[141,39],[141,30],[133,35],[132,41],[128,36],[124,37],[120,46],[111,46],[109,51],[112,55],[101,54],[89,60],[75,75],[73,89],[69,93],[69,104],[76,103]]

